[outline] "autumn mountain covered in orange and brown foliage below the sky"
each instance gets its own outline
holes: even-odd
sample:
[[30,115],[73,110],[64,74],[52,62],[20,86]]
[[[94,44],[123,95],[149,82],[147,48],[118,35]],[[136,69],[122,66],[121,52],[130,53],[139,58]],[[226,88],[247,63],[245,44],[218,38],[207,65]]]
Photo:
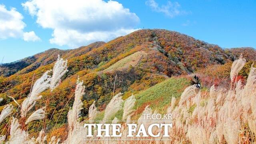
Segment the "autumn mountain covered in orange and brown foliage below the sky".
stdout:
[[[208,44],[179,32],[160,29],[138,30],[107,43],[95,42],[74,50],[54,48],[0,66],[0,97],[4,99],[0,103],[0,110],[10,102],[14,104],[8,96],[21,103],[28,96],[32,82],[40,78],[46,70],[52,69],[58,54],[68,60],[69,71],[56,90],[42,93],[42,99],[35,106],[37,109],[48,105],[47,118],[53,117],[48,130],[51,130],[55,123],[67,122],[66,114],[60,113],[67,113],[72,106],[70,98],[74,94],[78,76],[86,86],[82,99],[84,109],[81,114],[81,119],[84,120],[88,118],[88,108],[94,100],[98,110],[105,109],[113,96],[114,85],[114,93],[124,93],[124,99],[131,94],[138,94],[136,96],[142,98],[142,102],[147,102],[143,98],[148,96],[142,92],[148,90],[153,93],[154,90],[161,90],[164,87],[156,84],[165,84],[166,80],[168,83],[170,77],[232,62],[238,58],[238,52],[244,52],[248,60],[254,60],[255,57],[250,53],[255,50],[246,52],[247,50],[249,49],[224,50],[218,45]],[[182,86],[189,83],[188,78],[185,79],[180,79],[180,84],[175,84],[174,80],[168,84],[178,86],[178,91],[182,92]],[[161,108],[164,108],[164,98],[160,97],[158,102],[162,105]],[[39,124],[35,123],[35,126]],[[34,127],[29,129],[35,131]]]

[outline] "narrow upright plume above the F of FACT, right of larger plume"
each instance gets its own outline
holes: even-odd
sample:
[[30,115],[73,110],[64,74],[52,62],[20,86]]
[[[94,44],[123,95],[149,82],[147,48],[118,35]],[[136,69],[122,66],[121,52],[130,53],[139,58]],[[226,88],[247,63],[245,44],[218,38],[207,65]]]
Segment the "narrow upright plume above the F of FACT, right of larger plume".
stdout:
[[126,99],[126,101],[124,102],[124,113],[122,120],[126,120],[126,117],[134,111],[132,108],[134,107],[135,101],[136,99],[134,95]]

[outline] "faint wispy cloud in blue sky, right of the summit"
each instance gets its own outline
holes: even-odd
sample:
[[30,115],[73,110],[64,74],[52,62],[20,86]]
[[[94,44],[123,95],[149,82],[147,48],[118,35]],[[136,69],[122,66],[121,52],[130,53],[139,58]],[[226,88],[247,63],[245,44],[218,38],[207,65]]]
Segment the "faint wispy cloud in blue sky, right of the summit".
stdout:
[[154,0],[147,0],[146,5],[156,12],[162,12],[171,18],[186,13],[183,10],[180,10],[180,4],[178,2],[170,2],[167,4],[159,6]]

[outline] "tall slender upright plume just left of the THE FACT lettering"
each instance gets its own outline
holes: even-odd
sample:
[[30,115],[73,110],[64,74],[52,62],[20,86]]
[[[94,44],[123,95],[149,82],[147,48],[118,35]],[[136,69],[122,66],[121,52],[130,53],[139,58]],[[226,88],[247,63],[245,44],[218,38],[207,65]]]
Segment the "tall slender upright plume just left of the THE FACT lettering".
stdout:
[[82,86],[84,82],[81,82],[79,78],[76,81],[76,90],[75,90],[75,100],[72,106],[72,109],[68,112],[68,126],[72,128],[76,126],[77,120],[79,118],[80,110],[82,110],[82,100],[81,97],[84,95],[84,88]]

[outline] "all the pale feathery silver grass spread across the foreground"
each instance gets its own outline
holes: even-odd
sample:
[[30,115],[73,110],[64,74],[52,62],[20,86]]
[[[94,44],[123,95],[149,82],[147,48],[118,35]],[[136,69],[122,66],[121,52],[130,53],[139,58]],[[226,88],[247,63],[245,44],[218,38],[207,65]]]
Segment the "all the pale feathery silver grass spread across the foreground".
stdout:
[[[238,72],[244,66],[245,60],[240,57],[232,65],[230,78],[237,76]],[[28,98],[24,100],[21,105],[21,117],[26,118],[26,112],[31,110],[37,100],[41,98],[40,93],[46,89],[56,88],[59,84],[60,77],[67,71],[66,61],[60,59],[56,62],[53,69],[53,75],[50,76],[47,71],[41,78],[39,78]],[[58,71],[58,72],[55,72]],[[60,76],[61,75],[61,76]],[[149,139],[151,142],[157,140],[155,143],[160,144],[237,144],[237,143],[255,143],[256,142],[256,68],[251,68],[247,83],[242,86],[240,82],[234,81],[234,88],[226,90],[224,88],[215,87],[214,85],[210,90],[201,92],[195,85],[189,86],[184,90],[179,98],[172,97],[169,108],[166,113],[172,114],[173,127],[168,129],[170,137],[164,138],[162,129],[154,129],[153,133],[160,132],[158,138],[142,138]],[[232,84],[231,84],[232,85]],[[97,138],[96,131],[94,137],[86,138],[88,129],[83,127],[83,123],[79,121],[80,111],[82,110],[82,96],[84,95],[84,86],[78,78],[75,98],[72,108],[68,112],[68,138],[62,142],[63,144],[104,144],[106,138]],[[170,97],[172,94],[170,94]],[[122,100],[122,94],[119,93],[114,96],[104,113],[103,120],[111,120],[116,123],[118,119],[115,114],[118,110],[123,110],[122,120],[130,120],[133,116],[134,104],[136,103],[135,97],[130,96],[125,101]],[[10,115],[12,106],[6,106],[0,115],[0,121]],[[98,110],[94,103],[89,108],[89,120],[95,120]],[[154,113],[158,113],[154,111]],[[144,114],[144,115],[143,115]],[[150,106],[146,106],[140,118],[138,118],[138,125],[144,124],[147,129],[152,123],[167,123],[166,120],[159,122],[143,122],[148,121],[145,116],[148,114],[150,117],[153,114]],[[127,116],[127,118],[126,118]],[[44,110],[41,108],[30,115],[25,124],[32,120],[44,118]],[[20,128],[18,119],[12,118],[10,124],[10,136],[0,136],[0,142],[4,141],[9,144],[44,144],[46,143],[45,130],[42,129],[38,138],[30,138],[28,132]],[[122,128],[122,133],[127,133],[127,127]],[[90,139],[98,139],[98,141],[90,141]],[[84,139],[87,139],[84,141]],[[115,138],[110,138],[110,143],[123,143],[124,141],[115,141]],[[126,139],[122,136],[121,139]],[[49,138],[49,144],[58,144],[60,139],[56,140],[55,136]],[[167,141],[171,140],[171,141]],[[150,141],[127,141],[130,144],[148,143]]]

